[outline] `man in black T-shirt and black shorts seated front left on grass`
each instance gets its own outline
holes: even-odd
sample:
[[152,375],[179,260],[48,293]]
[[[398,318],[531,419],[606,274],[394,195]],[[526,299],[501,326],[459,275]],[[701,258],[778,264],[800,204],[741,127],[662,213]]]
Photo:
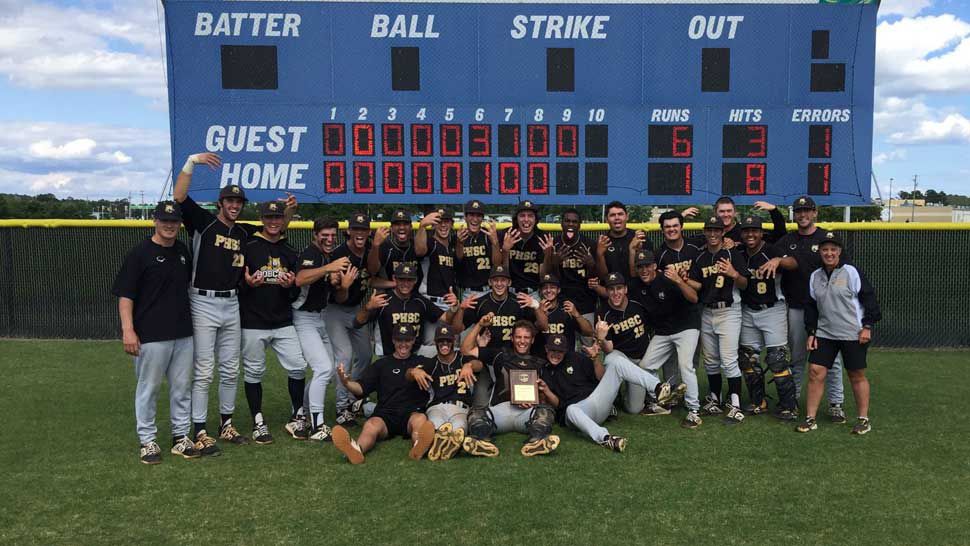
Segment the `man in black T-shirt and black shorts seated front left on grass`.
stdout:
[[374,413],[364,422],[356,440],[343,426],[333,427],[333,445],[347,456],[351,464],[363,463],[364,453],[373,449],[378,441],[398,435],[411,437],[408,456],[414,460],[424,457],[431,447],[435,429],[423,413],[428,393],[414,381],[408,380],[411,369],[423,362],[422,357],[411,353],[416,336],[417,332],[412,326],[395,326],[391,334],[394,353],[368,366],[357,381],[347,376],[343,364],[337,366],[340,382],[358,399],[377,392]]

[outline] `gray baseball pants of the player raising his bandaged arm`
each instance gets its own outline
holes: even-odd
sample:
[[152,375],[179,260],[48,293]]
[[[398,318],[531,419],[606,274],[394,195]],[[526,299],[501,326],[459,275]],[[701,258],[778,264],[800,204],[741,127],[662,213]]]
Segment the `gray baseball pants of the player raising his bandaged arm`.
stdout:
[[195,364],[192,375],[192,422],[205,423],[209,385],[219,359],[219,413],[236,409],[239,351],[242,337],[239,299],[202,296],[189,291]]

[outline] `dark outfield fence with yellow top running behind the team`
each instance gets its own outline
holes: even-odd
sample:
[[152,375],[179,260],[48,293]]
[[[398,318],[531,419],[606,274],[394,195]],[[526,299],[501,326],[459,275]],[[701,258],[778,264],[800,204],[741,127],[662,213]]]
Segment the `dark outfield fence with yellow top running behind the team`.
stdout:
[[[125,253],[151,234],[151,225],[0,220],[0,337],[118,338],[111,284]],[[311,225],[293,222],[295,248],[309,242]],[[970,346],[970,224],[824,225],[844,238],[853,262],[876,287],[883,313],[873,336],[876,345]],[[656,224],[630,227],[646,229],[655,245],[660,242]],[[686,227],[696,232],[700,224]],[[595,235],[607,226],[584,229]]]

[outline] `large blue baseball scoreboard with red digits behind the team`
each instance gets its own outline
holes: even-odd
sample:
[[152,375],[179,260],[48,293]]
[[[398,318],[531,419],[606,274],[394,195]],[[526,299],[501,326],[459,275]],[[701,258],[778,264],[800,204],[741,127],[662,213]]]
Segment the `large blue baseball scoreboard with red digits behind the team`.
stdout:
[[173,168],[332,203],[869,202],[875,3],[167,0]]

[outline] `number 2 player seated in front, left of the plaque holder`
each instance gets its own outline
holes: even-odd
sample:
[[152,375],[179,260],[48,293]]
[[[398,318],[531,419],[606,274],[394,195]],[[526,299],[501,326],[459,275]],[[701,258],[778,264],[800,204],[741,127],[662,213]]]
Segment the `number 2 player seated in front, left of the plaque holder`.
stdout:
[[461,449],[475,373],[482,368],[478,360],[462,365],[461,353],[455,350],[455,337],[455,331],[449,326],[435,328],[438,354],[425,357],[407,374],[409,380],[431,393],[425,414],[435,427],[434,441],[428,450],[428,459],[432,461],[448,460]]

